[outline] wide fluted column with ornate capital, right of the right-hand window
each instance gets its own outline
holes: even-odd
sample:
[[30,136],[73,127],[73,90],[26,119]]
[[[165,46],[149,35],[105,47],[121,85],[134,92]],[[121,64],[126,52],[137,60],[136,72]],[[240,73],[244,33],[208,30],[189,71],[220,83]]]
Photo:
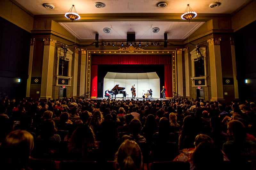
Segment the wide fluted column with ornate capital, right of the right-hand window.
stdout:
[[209,55],[210,55],[209,58],[210,58],[211,87],[212,87],[211,101],[224,100],[223,85],[222,85],[221,56],[220,56],[220,41],[221,41],[221,38],[212,38],[207,40],[209,44]]

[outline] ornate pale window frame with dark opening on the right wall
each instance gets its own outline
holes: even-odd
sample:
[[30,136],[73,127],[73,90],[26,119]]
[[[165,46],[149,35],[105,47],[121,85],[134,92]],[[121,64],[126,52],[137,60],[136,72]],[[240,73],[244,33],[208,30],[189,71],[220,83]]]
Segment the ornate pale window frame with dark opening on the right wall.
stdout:
[[206,72],[206,48],[201,47],[201,54],[204,57],[200,57],[196,48],[190,52],[191,55],[191,73],[192,73],[192,87],[207,86],[207,72]]

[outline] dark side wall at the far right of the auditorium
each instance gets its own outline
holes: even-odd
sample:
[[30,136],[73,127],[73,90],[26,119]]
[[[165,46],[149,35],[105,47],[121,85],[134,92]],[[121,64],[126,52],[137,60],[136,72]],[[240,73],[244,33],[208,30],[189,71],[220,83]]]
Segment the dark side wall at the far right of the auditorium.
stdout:
[[[235,33],[236,71],[240,99],[256,98],[256,21]],[[245,84],[248,79],[248,84]]]

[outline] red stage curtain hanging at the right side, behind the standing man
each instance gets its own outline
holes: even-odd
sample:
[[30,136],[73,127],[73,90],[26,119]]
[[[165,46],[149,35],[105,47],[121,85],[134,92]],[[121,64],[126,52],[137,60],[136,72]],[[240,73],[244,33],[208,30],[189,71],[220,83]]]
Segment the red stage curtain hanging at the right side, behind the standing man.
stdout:
[[[172,67],[171,65],[164,65],[164,86],[166,88],[166,97],[172,97]],[[162,89],[162,88],[161,88]]]

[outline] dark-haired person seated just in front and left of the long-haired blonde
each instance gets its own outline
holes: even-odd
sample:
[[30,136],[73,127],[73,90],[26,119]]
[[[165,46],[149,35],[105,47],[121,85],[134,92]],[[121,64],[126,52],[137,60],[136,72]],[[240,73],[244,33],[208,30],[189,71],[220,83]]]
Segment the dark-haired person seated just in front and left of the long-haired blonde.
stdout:
[[160,119],[158,133],[153,135],[153,143],[175,142],[175,135],[171,133],[171,125],[166,117]]

